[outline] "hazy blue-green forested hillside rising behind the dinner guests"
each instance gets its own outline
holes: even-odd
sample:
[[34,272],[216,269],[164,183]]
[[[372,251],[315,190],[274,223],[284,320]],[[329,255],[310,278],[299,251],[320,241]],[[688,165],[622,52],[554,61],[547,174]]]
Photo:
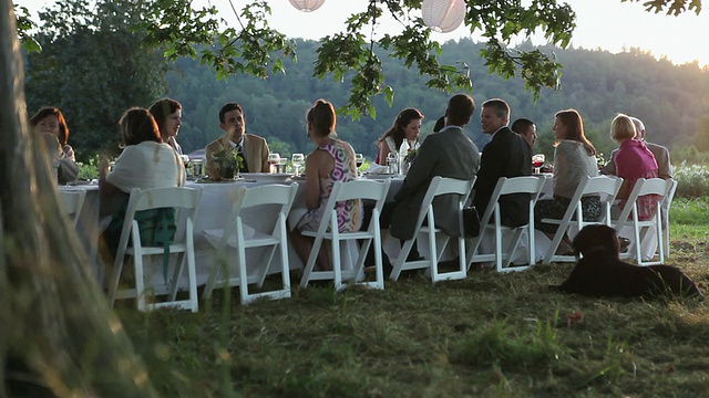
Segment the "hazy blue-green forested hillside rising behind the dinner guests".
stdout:
[[[477,56],[481,48],[470,40],[449,42],[443,45],[441,61],[449,64],[464,62],[470,66],[474,85],[472,95],[479,105],[487,98],[501,97],[510,103],[512,119],[527,117],[536,122],[537,149],[547,154],[553,150],[551,127],[554,114],[559,109],[578,109],[587,135],[599,151],[606,153],[614,147],[608,128],[618,112],[641,118],[648,140],[669,147],[691,144],[699,119],[708,114],[709,71],[702,71],[697,64],[677,66],[639,51],[610,54],[553,49],[564,65],[561,91],[543,91],[534,103],[522,80],[504,81],[487,74]],[[298,40],[298,62],[286,62],[285,75],[267,80],[233,76],[228,81],[217,81],[208,67],[191,60],[178,61],[167,76],[167,95],[184,106],[179,133],[183,147],[197,149],[220,135],[218,108],[226,102],[236,101],[245,108],[247,132],[267,137],[274,150],[308,151],[311,144],[305,133],[305,112],[315,100],[326,98],[338,106],[349,96],[348,84],[330,77],[322,81],[311,77],[316,49],[317,42]],[[413,106],[423,112],[427,118],[422,132],[430,132],[450,96],[428,88],[425,80],[414,70],[408,70],[397,60],[381,57],[387,83],[395,88],[393,106],[389,107],[383,97],[378,97],[374,101],[376,119],[341,117],[337,127],[340,137],[369,158],[376,154],[374,140],[402,108]],[[466,132],[479,147],[486,143],[480,130],[479,113]]]

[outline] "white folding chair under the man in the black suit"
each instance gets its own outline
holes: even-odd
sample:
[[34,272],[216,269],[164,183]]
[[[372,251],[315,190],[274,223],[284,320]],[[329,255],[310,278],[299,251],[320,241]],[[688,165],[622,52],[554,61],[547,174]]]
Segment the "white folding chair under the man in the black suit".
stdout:
[[[501,177],[497,180],[495,190],[490,199],[490,205],[485,209],[483,217],[480,219],[480,232],[477,237],[473,238],[469,244],[470,251],[467,254],[467,264],[473,262],[495,262],[497,272],[508,271],[524,271],[536,263],[534,253],[534,205],[540,198],[540,193],[544,188],[546,177]],[[522,227],[505,227],[501,221],[500,213],[500,198],[504,195],[511,193],[528,193],[530,195],[530,219],[525,226]],[[494,203],[494,205],[493,205]],[[485,254],[477,253],[480,244],[485,237],[485,232],[493,232],[495,237],[495,251],[494,253]],[[503,232],[513,231],[514,235],[510,240],[505,250],[503,250]],[[520,245],[523,233],[527,234],[527,265],[526,266],[510,266],[514,259],[515,251]],[[503,264],[504,261],[504,264]]]

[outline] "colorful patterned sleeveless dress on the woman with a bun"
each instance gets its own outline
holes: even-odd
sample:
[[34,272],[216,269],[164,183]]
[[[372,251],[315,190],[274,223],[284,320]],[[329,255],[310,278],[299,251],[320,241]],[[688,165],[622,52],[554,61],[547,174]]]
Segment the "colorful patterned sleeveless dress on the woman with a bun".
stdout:
[[[335,167],[328,178],[320,179],[320,206],[309,210],[298,222],[300,231],[317,231],[326,212],[326,205],[330,199],[330,192],[336,181],[351,181],[357,178],[357,170],[351,168],[351,159],[342,148],[342,143],[336,140],[335,144],[328,144],[318,147],[325,150],[335,159]],[[339,232],[359,231],[362,226],[363,209],[362,201],[359,199],[346,200],[337,203],[337,223]],[[326,221],[327,222],[327,221]]]

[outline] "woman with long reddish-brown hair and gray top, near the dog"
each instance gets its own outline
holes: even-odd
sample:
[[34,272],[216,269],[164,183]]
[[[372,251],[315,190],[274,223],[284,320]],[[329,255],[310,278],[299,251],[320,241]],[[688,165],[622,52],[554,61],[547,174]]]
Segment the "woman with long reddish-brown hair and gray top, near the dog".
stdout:
[[[554,238],[557,227],[542,222],[544,218],[561,219],[571,205],[578,184],[585,177],[598,176],[596,148],[584,134],[584,122],[576,109],[559,111],[554,115],[554,197],[537,200],[534,207],[534,228]],[[584,221],[597,220],[600,216],[600,198],[587,196],[580,199]],[[571,241],[559,244],[559,252],[569,251]]]

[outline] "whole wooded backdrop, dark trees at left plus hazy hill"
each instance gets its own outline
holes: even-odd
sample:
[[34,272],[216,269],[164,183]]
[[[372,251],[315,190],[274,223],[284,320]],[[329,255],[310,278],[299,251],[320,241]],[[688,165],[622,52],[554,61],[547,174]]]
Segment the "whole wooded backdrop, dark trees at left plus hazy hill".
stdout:
[[[296,40],[298,62],[287,60],[285,74],[259,80],[246,75],[219,81],[208,66],[193,60],[165,65],[157,53],[132,45],[131,33],[80,30],[73,35],[50,40],[39,38],[42,53],[27,57],[27,97],[30,114],[43,105],[59,106],[71,128],[70,144],[80,159],[107,147],[115,148],[116,123],[130,106],[144,106],[169,96],[183,106],[178,142],[186,153],[204,148],[223,134],[218,109],[226,102],[238,102],[245,109],[246,129],[266,137],[274,151],[289,155],[308,153],[305,113],[318,98],[336,106],[349,97],[349,84],[312,77],[318,43]],[[524,44],[528,46],[530,44]],[[698,64],[674,65],[637,50],[620,54],[606,51],[542,49],[554,52],[564,65],[561,90],[545,90],[534,103],[521,78],[503,80],[489,75],[480,59],[482,44],[471,40],[443,44],[441,62],[465,63],[473,81],[472,95],[479,107],[483,101],[500,97],[512,107],[512,121],[526,117],[538,127],[536,150],[553,154],[552,124],[559,109],[576,108],[584,117],[586,134],[599,153],[615,147],[608,138],[616,113],[641,118],[648,140],[682,154],[709,150],[709,71]],[[114,54],[114,55],[106,55]],[[404,107],[417,107],[424,115],[423,135],[443,115],[452,93],[425,86],[425,77],[404,67],[398,60],[382,60],[386,83],[395,90],[393,106],[383,96],[373,98],[377,118],[359,121],[340,117],[337,132],[369,159],[376,155],[374,142]],[[165,66],[169,66],[165,74]],[[352,72],[356,73],[356,72]],[[511,121],[511,122],[512,122]],[[479,112],[466,133],[482,149],[487,137],[481,133]],[[675,151],[674,151],[675,153]],[[687,156],[685,156],[687,157]]]

